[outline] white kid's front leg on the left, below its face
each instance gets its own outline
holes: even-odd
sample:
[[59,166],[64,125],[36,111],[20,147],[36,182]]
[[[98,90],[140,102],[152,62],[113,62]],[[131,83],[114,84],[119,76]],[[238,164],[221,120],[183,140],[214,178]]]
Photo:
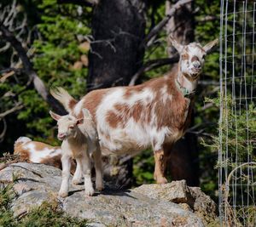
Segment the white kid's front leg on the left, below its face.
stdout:
[[62,198],[68,196],[68,180],[69,180],[69,175],[70,175],[70,167],[71,167],[71,159],[72,157],[63,154],[61,156],[61,164],[62,164],[62,181],[61,181],[61,189],[59,190],[59,196]]

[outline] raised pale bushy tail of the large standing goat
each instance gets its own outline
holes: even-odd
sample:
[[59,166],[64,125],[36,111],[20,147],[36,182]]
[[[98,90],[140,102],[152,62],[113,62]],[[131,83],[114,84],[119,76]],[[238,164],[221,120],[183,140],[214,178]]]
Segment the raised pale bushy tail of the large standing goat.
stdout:
[[78,103],[64,88],[51,88],[49,93],[64,106],[67,112],[71,112],[74,105]]

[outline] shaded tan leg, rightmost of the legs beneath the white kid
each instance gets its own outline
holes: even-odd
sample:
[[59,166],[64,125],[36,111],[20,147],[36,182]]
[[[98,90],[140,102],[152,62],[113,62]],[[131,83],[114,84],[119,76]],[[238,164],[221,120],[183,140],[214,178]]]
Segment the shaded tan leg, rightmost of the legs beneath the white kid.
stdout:
[[102,151],[98,147],[93,154],[96,172],[96,190],[103,190],[103,176],[102,176]]

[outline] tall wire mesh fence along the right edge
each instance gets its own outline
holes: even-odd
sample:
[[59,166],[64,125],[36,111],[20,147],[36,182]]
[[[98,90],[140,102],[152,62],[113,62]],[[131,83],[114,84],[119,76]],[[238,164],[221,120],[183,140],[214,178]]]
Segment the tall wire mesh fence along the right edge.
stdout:
[[254,1],[221,0],[219,215],[256,226],[256,47]]

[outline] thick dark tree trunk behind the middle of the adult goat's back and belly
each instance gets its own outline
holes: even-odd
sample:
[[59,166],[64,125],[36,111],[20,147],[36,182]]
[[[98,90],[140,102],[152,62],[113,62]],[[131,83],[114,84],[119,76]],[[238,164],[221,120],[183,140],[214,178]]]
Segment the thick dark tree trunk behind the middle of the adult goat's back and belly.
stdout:
[[[140,0],[101,0],[93,10],[88,91],[128,85],[143,64],[139,49],[145,34],[144,4]],[[105,179],[116,187],[132,182],[132,160],[111,156],[104,161]]]

